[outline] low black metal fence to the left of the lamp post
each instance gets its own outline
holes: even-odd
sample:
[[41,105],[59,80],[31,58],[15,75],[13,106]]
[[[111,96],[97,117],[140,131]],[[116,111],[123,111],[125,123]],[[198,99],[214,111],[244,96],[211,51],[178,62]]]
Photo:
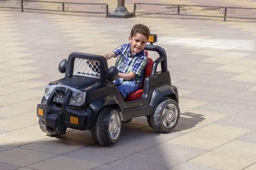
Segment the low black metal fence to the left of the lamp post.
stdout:
[[12,8],[39,11],[61,11],[76,13],[108,14],[108,4],[105,3],[70,3],[42,0],[0,0],[0,8]]

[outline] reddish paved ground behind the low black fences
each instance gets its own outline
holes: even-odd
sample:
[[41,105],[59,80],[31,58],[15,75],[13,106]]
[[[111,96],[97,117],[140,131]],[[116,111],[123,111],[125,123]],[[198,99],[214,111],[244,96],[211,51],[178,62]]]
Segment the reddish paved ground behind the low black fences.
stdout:
[[[47,0],[52,1],[52,0]],[[26,2],[23,4],[24,8],[36,8],[44,10],[59,10],[62,11],[62,4],[58,2],[66,2],[65,11],[90,11],[90,12],[105,12],[106,8],[103,8],[101,5],[81,5],[81,4],[69,4],[72,2],[70,0],[53,0],[54,3],[49,2]],[[108,11],[113,13],[117,6],[117,0],[76,0],[76,3],[107,3]],[[169,18],[197,18],[205,20],[224,20],[224,8],[215,8],[215,7],[196,7],[197,6],[224,6],[224,7],[243,7],[243,8],[256,8],[256,0],[214,0],[214,1],[205,1],[205,0],[126,0],[125,7],[129,12],[134,11],[134,3],[159,3],[159,4],[178,4],[178,5],[190,5],[190,6],[180,6],[180,14],[189,14],[189,15],[207,15],[212,17],[191,17],[185,15],[173,15],[177,13],[177,6],[159,6],[159,5],[138,5],[136,6],[137,12],[149,12],[149,13],[158,13],[150,14],[150,17],[169,17]],[[191,6],[192,5],[192,6]],[[0,6],[9,6],[9,7],[19,7],[20,3],[17,3],[17,0],[0,0]],[[16,11],[20,11],[17,9]],[[35,11],[24,9],[24,11]],[[39,12],[39,11],[37,11]],[[40,11],[45,12],[45,11]],[[49,11],[48,11],[49,12]],[[53,12],[54,13],[54,12]],[[60,12],[55,12],[60,13]],[[105,12],[106,13],[106,12]],[[87,15],[87,16],[105,16],[106,14],[91,14],[91,13],[73,13],[76,15]],[[163,14],[172,14],[172,15],[163,15]],[[148,14],[136,13],[136,16],[146,17]],[[215,16],[215,17],[213,17]],[[217,17],[216,17],[217,16]],[[238,8],[227,8],[227,17],[247,17],[247,18],[256,18],[256,9],[238,9]],[[241,19],[232,19],[228,18],[227,20],[241,20]],[[256,21],[256,20],[251,20]]]

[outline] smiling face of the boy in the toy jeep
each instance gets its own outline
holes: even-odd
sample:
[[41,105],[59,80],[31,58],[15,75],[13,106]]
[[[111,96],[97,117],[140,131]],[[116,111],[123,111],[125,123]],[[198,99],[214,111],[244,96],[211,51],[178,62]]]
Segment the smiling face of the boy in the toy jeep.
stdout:
[[131,43],[131,54],[138,53],[145,47],[147,37],[143,34],[137,33],[135,36],[129,37],[129,42]]

